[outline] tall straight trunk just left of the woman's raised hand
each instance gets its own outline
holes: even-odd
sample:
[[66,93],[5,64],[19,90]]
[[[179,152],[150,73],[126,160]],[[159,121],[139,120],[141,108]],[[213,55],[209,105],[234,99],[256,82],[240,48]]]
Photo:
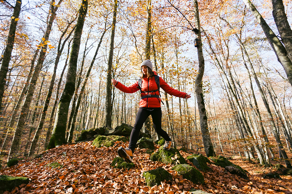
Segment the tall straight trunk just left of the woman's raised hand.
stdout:
[[118,1],[114,0],[114,13],[112,17],[112,31],[110,35],[110,47],[109,47],[109,57],[107,60],[107,82],[106,82],[106,94],[105,94],[105,127],[112,127],[112,58],[114,55],[114,31],[116,28],[117,21],[117,7]]

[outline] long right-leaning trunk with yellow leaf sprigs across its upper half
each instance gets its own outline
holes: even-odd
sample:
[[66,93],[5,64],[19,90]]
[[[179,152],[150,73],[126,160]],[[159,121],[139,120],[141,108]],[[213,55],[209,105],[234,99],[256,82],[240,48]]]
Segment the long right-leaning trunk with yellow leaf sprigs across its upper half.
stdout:
[[[63,0],[60,0],[58,5],[60,5],[60,3],[62,1]],[[15,133],[13,136],[11,148],[9,151],[8,160],[15,157],[15,154],[18,152],[18,149],[20,147],[20,139],[21,139],[22,131],[23,131],[24,124],[26,121],[27,113],[29,112],[30,103],[32,102],[36,81],[39,77],[39,72],[42,68],[42,65],[44,63],[44,58],[46,56],[46,49],[48,46],[46,41],[48,41],[49,35],[51,33],[51,29],[52,29],[53,21],[56,17],[57,9],[58,9],[58,6],[54,6],[53,4],[51,5],[50,13],[49,13],[50,19],[49,19],[49,22],[47,25],[46,33],[45,33],[44,38],[43,38],[43,42],[39,45],[41,47],[41,51],[39,54],[38,61],[36,63],[36,67],[34,69],[34,73],[32,74],[32,78],[31,78],[29,86],[28,86],[27,96],[25,98],[25,102],[22,106],[21,113],[20,113],[20,116],[18,118],[18,123],[17,123],[16,130],[15,130]]]

